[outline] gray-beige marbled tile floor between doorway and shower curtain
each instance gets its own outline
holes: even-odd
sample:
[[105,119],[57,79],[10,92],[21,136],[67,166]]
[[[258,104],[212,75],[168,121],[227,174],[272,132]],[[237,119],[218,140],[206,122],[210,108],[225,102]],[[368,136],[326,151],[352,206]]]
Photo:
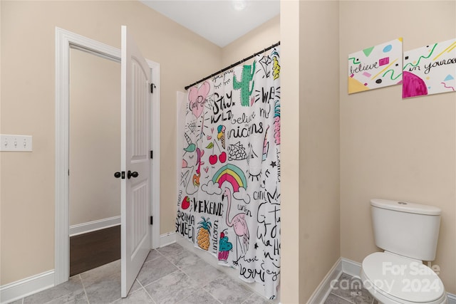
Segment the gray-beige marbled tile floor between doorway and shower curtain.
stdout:
[[128,298],[120,298],[119,260],[14,302],[19,303],[271,304],[177,243],[150,251]]

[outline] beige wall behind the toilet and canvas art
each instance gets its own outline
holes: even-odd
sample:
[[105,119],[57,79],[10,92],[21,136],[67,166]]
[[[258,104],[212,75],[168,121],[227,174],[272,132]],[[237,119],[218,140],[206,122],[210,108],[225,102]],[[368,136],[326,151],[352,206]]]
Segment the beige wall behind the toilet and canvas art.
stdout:
[[[375,12],[380,12],[376,14]],[[388,12],[388,14],[383,14]],[[456,38],[456,1],[341,1],[341,256],[376,248],[369,199],[442,209],[433,264],[456,293],[456,93],[401,99],[400,85],[347,94],[347,58],[403,37],[403,50]]]

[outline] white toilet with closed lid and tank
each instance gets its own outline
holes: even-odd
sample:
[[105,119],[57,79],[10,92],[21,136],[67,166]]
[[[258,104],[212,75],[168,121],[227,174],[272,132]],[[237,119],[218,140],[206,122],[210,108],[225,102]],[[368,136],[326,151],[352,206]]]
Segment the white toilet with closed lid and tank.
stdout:
[[364,258],[361,280],[380,303],[448,303],[442,281],[423,261],[433,261],[440,228],[435,206],[371,199],[375,245]]

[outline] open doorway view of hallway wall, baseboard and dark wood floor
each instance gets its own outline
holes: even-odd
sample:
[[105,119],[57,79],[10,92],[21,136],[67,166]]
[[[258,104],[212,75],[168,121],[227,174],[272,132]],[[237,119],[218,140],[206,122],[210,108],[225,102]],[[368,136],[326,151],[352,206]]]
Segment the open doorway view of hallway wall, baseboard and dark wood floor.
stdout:
[[120,258],[120,63],[70,49],[70,276]]

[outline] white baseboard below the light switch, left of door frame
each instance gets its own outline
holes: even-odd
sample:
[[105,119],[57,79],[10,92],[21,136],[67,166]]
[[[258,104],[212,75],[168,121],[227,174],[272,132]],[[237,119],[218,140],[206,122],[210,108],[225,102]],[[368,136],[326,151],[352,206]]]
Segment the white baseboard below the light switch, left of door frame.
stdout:
[[11,303],[54,286],[54,271],[46,271],[36,276],[24,278],[13,283],[0,286],[0,303]]

